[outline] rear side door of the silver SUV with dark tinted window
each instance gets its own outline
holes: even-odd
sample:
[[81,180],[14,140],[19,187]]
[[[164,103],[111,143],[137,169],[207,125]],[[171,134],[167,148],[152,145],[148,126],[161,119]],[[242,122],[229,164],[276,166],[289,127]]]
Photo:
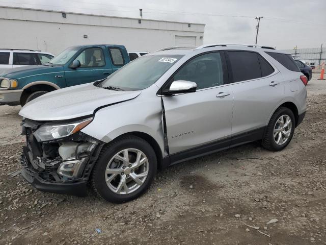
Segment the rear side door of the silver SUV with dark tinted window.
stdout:
[[259,139],[284,98],[282,75],[259,53],[228,51],[227,56],[234,96],[232,135],[239,136],[231,144]]

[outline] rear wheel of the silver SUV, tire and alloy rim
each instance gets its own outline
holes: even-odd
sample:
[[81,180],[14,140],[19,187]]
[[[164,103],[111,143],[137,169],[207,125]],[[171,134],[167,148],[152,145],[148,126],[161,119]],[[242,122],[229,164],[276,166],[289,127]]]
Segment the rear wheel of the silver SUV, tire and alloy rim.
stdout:
[[262,145],[269,151],[281,151],[291,141],[295,128],[293,112],[287,107],[279,107],[271,116]]

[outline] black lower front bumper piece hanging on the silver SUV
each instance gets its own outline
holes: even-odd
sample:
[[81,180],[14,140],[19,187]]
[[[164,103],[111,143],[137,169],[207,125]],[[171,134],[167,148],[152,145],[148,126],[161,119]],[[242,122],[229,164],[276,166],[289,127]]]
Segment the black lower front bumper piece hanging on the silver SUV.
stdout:
[[34,173],[32,169],[29,169],[26,162],[26,157],[21,155],[21,163],[23,165],[21,176],[36,189],[45,192],[76,195],[77,197],[85,197],[87,195],[87,181],[79,181],[74,183],[44,181],[38,176],[37,173]]

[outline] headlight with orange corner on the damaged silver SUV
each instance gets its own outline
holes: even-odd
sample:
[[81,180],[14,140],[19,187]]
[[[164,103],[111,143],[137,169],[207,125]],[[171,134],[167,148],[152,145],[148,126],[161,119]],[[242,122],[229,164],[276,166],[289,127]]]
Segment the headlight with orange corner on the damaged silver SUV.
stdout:
[[35,131],[34,136],[39,142],[64,138],[82,130],[92,120],[93,118],[87,118],[67,124],[44,124]]

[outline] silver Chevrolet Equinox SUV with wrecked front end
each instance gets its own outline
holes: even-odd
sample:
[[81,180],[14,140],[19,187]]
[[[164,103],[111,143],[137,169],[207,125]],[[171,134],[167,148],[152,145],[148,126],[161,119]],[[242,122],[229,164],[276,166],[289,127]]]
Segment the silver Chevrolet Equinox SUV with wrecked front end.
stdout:
[[166,48],[26,104],[22,176],[43,191],[83,196],[91,183],[129,201],[158,168],[256,140],[284,149],[305,116],[306,83],[271,47]]

